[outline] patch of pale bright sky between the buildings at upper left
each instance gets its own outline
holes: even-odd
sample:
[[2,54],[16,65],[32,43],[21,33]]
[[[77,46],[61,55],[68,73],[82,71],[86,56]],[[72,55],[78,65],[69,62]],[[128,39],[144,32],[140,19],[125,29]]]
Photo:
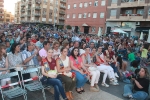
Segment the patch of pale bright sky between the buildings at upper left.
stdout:
[[4,9],[11,12],[12,14],[15,13],[15,3],[19,0],[4,0]]

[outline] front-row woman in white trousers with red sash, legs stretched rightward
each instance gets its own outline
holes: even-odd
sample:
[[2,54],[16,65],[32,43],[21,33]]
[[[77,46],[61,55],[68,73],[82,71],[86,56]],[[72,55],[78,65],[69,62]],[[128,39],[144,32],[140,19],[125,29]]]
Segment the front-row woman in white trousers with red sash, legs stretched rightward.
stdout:
[[115,78],[113,68],[110,65],[108,65],[108,63],[104,59],[104,55],[102,53],[102,46],[99,46],[97,51],[96,65],[98,65],[98,70],[104,73],[103,81],[101,84],[102,86],[109,87],[109,85],[105,83],[107,75],[110,79],[110,84],[119,85],[117,79]]

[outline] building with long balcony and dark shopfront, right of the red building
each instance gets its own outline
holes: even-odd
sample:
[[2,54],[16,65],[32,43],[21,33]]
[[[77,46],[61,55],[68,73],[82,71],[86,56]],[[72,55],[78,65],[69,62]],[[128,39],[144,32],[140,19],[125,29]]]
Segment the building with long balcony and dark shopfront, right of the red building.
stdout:
[[139,36],[150,30],[150,0],[109,0],[106,32],[121,29],[129,36]]

